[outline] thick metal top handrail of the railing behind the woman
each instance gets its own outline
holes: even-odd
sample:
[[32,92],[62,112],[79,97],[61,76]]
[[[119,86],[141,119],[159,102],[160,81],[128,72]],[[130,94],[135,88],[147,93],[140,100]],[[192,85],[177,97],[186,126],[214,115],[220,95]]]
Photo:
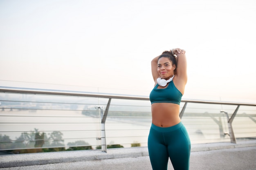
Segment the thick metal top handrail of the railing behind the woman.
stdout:
[[[0,92],[36,94],[36,95],[63,95],[63,96],[99,97],[99,98],[111,98],[111,99],[149,100],[149,97],[146,97],[146,96],[119,95],[119,94],[93,93],[93,92],[81,92],[81,91],[62,91],[62,90],[37,89],[37,88],[17,88],[17,87],[5,87],[5,86],[0,86]],[[206,101],[206,100],[195,100],[195,99],[182,99],[181,102],[256,106],[256,104],[253,104],[253,103],[219,102],[219,101],[209,101],[209,100]]]

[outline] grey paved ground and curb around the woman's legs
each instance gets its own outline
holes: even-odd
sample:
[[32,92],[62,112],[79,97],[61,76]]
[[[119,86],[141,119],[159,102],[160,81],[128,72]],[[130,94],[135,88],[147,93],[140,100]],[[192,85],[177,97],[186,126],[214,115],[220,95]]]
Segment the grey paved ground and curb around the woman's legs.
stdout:
[[[135,152],[136,150],[136,152]],[[0,168],[1,170],[151,170],[149,157],[146,148],[114,149],[108,153],[99,152],[97,157],[95,151],[62,152],[62,158],[58,163],[43,163],[43,159],[49,157],[47,154],[26,154],[1,156],[0,165],[5,163],[36,163],[33,160],[41,159],[43,165],[18,166],[10,168]],[[124,153],[126,152],[126,153]],[[65,153],[70,153],[70,157],[65,158]],[[76,160],[70,159],[72,153],[76,153]],[[87,161],[83,154],[86,153]],[[139,154],[138,154],[139,153]],[[79,155],[80,154],[80,155]],[[101,155],[102,154],[102,155]],[[54,155],[50,154],[54,161]],[[90,156],[88,156],[90,155]],[[107,155],[112,155],[110,159]],[[115,156],[113,156],[115,155]],[[17,160],[22,156],[22,160]],[[38,157],[39,156],[39,157]],[[36,158],[37,157],[37,158]],[[60,155],[58,155],[60,157]],[[7,159],[6,159],[7,158]],[[90,158],[90,159],[89,159]],[[24,161],[26,159],[27,161]],[[61,162],[63,160],[63,162]],[[71,161],[71,162],[68,162]],[[48,160],[49,161],[49,160]],[[1,164],[2,163],[2,164]],[[5,164],[7,165],[7,164]],[[20,164],[21,165],[21,164]],[[169,161],[168,170],[173,170]],[[256,141],[241,142],[240,144],[215,143],[200,144],[192,148],[190,159],[190,170],[256,170]]]

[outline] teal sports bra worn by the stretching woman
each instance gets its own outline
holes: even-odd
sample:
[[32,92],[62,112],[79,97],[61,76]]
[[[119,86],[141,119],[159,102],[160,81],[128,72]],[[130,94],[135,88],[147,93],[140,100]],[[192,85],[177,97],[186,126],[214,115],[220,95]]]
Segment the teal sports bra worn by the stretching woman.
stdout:
[[157,84],[149,95],[151,104],[153,103],[174,103],[180,105],[182,93],[171,81],[166,88],[157,88]]

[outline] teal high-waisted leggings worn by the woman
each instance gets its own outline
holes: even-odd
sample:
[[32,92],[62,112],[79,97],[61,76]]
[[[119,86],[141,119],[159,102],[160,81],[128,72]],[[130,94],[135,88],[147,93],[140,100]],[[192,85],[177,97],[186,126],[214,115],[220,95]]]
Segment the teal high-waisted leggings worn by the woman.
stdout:
[[182,122],[162,128],[151,125],[148,153],[153,170],[167,170],[168,159],[175,170],[189,170],[190,139]]

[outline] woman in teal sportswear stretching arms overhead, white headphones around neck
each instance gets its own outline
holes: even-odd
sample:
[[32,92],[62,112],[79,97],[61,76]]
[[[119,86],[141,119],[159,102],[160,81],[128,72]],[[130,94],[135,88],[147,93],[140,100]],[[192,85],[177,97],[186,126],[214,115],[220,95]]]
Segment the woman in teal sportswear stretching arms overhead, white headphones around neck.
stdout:
[[[176,55],[176,56],[175,56]],[[152,125],[148,152],[153,170],[189,170],[190,139],[179,117],[187,82],[186,55],[181,49],[164,51],[151,62],[155,87],[150,93]]]

